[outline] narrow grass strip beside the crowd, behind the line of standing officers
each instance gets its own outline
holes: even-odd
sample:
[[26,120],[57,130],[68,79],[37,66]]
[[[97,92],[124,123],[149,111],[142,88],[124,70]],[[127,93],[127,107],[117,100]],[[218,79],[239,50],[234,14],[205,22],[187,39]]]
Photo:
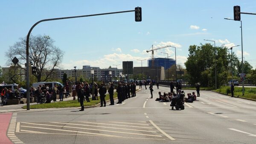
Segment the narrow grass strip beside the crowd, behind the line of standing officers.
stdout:
[[[114,98],[117,97],[117,92],[114,92]],[[98,96],[99,98],[99,96]],[[109,94],[106,95],[105,100],[109,100]],[[90,98],[90,102],[87,103],[84,101],[84,107],[86,106],[95,106],[96,104],[100,103],[99,100],[92,101],[92,98]],[[61,107],[81,107],[80,103],[77,101],[77,98],[75,101],[60,101],[60,102],[54,102],[54,103],[47,103],[47,104],[34,104],[30,105],[30,109],[47,109],[47,108],[61,108]],[[26,109],[26,106],[23,107],[23,109]]]

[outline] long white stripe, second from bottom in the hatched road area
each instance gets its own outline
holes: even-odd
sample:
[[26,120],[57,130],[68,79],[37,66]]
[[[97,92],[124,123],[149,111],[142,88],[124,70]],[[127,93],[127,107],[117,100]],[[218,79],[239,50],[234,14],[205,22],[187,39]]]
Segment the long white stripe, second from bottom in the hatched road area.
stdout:
[[[24,123],[24,124],[34,124],[34,123],[25,123],[25,122],[22,122],[22,123]],[[100,129],[89,129],[89,128],[83,128],[83,127],[56,126],[56,125],[49,125],[49,124],[34,124],[34,125],[43,125],[43,126],[50,126],[50,127],[67,127],[67,128],[76,128],[76,129],[82,129],[82,130],[95,130],[95,131],[103,131],[103,132],[125,133],[125,134],[131,134],[131,135],[146,135],[146,136],[162,137],[161,135],[149,135],[149,134],[142,134],[142,133],[120,132],[120,131],[100,130]],[[29,126],[21,126],[21,127],[29,127]],[[36,128],[36,127],[34,127],[34,128]],[[37,127],[37,128],[39,128],[39,127]],[[53,129],[53,130],[56,130],[56,129]],[[96,133],[93,133],[93,134],[96,134]],[[99,134],[99,133],[97,133],[97,134]]]

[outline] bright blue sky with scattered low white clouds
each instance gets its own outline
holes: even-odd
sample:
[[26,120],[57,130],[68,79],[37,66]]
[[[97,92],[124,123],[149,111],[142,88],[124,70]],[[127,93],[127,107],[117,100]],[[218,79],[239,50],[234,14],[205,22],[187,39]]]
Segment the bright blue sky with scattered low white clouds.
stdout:
[[[133,10],[142,7],[142,22],[135,22],[134,12],[48,21],[38,24],[32,35],[49,35],[65,52],[62,67],[83,65],[107,68],[122,61],[148,59],[146,53],[155,47],[177,47],[177,63],[183,63],[190,45],[215,40],[216,46],[241,45],[240,22],[233,19],[233,6],[241,12],[256,13],[253,0],[1,0],[0,1],[0,66],[6,66],[5,52],[20,37],[25,37],[39,20],[106,12]],[[243,21],[244,58],[256,68],[256,16],[241,14]],[[212,43],[213,44],[213,43]],[[156,58],[175,58],[174,48],[155,52]],[[233,48],[241,58],[241,46]],[[147,66],[147,61],[143,61]]]

